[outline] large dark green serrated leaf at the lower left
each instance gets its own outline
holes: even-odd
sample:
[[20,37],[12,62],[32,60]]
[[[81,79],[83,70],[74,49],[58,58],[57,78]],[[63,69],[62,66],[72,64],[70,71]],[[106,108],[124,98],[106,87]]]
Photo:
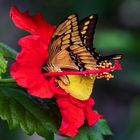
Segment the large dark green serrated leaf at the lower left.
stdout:
[[36,132],[47,140],[53,140],[57,131],[53,108],[41,106],[16,86],[0,84],[0,117],[8,122],[10,129],[20,127],[28,135]]

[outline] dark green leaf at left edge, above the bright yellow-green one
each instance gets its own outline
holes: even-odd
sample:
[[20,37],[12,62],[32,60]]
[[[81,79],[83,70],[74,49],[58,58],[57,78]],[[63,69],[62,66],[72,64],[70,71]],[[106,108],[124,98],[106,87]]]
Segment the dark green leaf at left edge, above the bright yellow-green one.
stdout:
[[7,58],[15,59],[17,52],[8,45],[0,42],[0,53]]

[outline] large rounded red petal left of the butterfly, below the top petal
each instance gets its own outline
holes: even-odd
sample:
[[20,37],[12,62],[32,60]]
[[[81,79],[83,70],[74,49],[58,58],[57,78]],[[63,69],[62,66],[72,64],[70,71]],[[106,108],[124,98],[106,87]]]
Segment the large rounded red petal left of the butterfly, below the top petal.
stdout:
[[49,80],[43,76],[41,67],[45,62],[48,51],[38,36],[27,36],[20,40],[21,52],[12,64],[10,72],[20,86],[40,98],[51,98],[53,91],[50,89]]

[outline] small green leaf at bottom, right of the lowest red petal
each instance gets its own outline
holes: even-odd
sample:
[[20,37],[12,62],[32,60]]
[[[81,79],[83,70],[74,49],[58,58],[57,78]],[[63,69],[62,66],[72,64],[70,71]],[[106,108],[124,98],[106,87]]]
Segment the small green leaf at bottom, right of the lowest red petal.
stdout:
[[103,140],[103,135],[112,135],[112,132],[106,120],[101,119],[93,127],[84,125],[76,137],[68,138],[68,140]]

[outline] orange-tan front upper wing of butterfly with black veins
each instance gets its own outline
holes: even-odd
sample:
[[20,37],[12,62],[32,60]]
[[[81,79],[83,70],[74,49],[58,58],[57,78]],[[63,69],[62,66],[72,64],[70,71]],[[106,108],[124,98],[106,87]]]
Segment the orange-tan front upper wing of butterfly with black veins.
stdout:
[[53,33],[49,44],[48,70],[59,71],[62,68],[79,70],[72,59],[70,48],[83,46],[79,35],[78,18],[76,14],[68,16]]

